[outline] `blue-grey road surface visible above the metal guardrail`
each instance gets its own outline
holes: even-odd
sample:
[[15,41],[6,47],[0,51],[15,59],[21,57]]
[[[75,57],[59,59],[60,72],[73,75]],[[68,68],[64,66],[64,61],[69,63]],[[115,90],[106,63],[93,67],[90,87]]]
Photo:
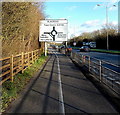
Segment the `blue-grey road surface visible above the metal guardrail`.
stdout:
[[101,52],[80,52],[80,50],[74,50],[76,52],[78,52],[79,54],[82,55],[88,55],[91,56],[93,58],[97,58],[100,60],[104,60],[104,61],[108,61],[110,63],[116,64],[118,66],[120,66],[120,55],[116,55],[116,54],[109,54],[109,53],[101,53]]

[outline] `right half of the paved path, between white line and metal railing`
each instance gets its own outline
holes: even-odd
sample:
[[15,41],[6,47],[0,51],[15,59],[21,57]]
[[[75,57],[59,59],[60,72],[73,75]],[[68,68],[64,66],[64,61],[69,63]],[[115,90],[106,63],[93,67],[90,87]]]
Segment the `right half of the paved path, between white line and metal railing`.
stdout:
[[112,105],[65,56],[59,56],[65,113],[116,113]]

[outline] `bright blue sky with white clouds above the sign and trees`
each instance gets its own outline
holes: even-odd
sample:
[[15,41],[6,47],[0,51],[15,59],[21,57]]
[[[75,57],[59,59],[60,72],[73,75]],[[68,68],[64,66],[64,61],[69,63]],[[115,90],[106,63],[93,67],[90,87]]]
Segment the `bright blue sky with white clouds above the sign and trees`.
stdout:
[[79,36],[83,32],[101,29],[106,23],[106,6],[108,6],[108,22],[114,25],[118,24],[118,2],[116,0],[109,3],[45,2],[44,5],[47,19],[68,20],[69,39],[73,36]]

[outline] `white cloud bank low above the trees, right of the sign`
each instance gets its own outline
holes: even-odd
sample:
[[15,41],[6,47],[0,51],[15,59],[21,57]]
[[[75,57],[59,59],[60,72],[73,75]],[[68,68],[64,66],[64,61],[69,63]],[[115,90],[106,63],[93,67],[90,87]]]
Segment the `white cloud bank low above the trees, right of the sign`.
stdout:
[[[117,21],[111,21],[109,24],[118,25]],[[80,25],[69,25],[68,26],[68,39],[74,36],[79,36],[83,32],[93,32],[102,29],[106,25],[106,20],[89,20]]]

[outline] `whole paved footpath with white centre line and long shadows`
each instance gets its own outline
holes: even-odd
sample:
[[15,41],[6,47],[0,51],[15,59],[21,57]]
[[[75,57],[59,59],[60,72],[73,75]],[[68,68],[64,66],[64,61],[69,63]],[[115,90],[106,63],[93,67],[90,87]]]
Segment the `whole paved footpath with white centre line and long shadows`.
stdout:
[[68,57],[53,52],[6,113],[117,112]]

